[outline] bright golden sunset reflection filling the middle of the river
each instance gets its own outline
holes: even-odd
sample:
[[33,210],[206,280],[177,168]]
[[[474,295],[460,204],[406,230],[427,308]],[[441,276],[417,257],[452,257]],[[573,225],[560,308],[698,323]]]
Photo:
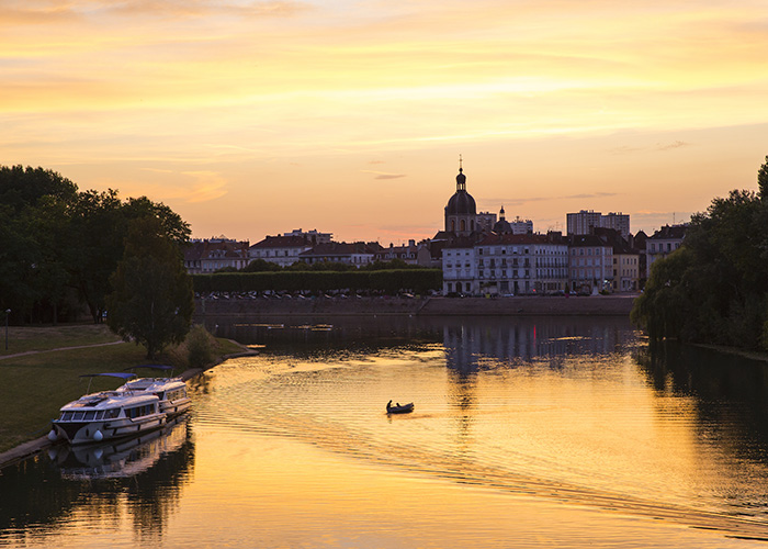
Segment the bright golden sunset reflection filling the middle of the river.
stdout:
[[[650,541],[656,530],[690,547],[732,542],[723,533],[768,534],[719,498],[722,486],[745,486],[737,464],[697,433],[693,399],[656,394],[626,354],[465,374],[426,346],[340,360],[244,358],[212,376],[217,396],[199,404],[199,440],[227,430],[233,439],[199,444],[199,459],[210,460],[201,469],[217,471],[217,490],[257,505],[272,529],[359,539],[385,525],[394,537],[382,547],[456,547],[470,535],[508,546],[510,530],[526,528],[542,547],[543,530],[567,547],[611,536],[632,546],[633,528],[637,547],[669,547]],[[415,401],[416,411],[387,417],[389,399]]]

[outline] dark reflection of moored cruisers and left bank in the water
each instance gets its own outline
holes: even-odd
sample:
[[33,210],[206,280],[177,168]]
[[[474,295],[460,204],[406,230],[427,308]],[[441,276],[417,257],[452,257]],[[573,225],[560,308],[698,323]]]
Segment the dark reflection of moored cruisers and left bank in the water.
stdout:
[[54,447],[0,475],[0,540],[45,537],[55,526],[131,517],[140,539],[161,535],[194,467],[189,422],[113,445]]

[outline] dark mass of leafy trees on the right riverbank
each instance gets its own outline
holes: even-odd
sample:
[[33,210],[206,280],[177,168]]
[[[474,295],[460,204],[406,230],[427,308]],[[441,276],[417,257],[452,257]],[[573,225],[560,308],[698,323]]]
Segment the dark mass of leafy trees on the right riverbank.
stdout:
[[632,311],[652,340],[768,350],[768,156],[757,182],[715,198],[653,264]]

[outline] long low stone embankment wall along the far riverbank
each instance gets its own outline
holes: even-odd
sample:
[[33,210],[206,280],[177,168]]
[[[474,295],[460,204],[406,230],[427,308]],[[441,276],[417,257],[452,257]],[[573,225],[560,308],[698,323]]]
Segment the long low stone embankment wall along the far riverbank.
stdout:
[[629,316],[635,294],[515,298],[199,299],[195,317]]

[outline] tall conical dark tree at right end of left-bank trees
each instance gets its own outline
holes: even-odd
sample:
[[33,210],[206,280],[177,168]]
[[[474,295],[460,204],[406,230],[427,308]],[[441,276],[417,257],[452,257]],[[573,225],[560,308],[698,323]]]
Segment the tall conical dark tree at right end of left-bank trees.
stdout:
[[157,217],[131,222],[125,253],[111,277],[106,323],[124,340],[135,340],[154,359],[190,330],[194,312],[192,279],[179,245]]

